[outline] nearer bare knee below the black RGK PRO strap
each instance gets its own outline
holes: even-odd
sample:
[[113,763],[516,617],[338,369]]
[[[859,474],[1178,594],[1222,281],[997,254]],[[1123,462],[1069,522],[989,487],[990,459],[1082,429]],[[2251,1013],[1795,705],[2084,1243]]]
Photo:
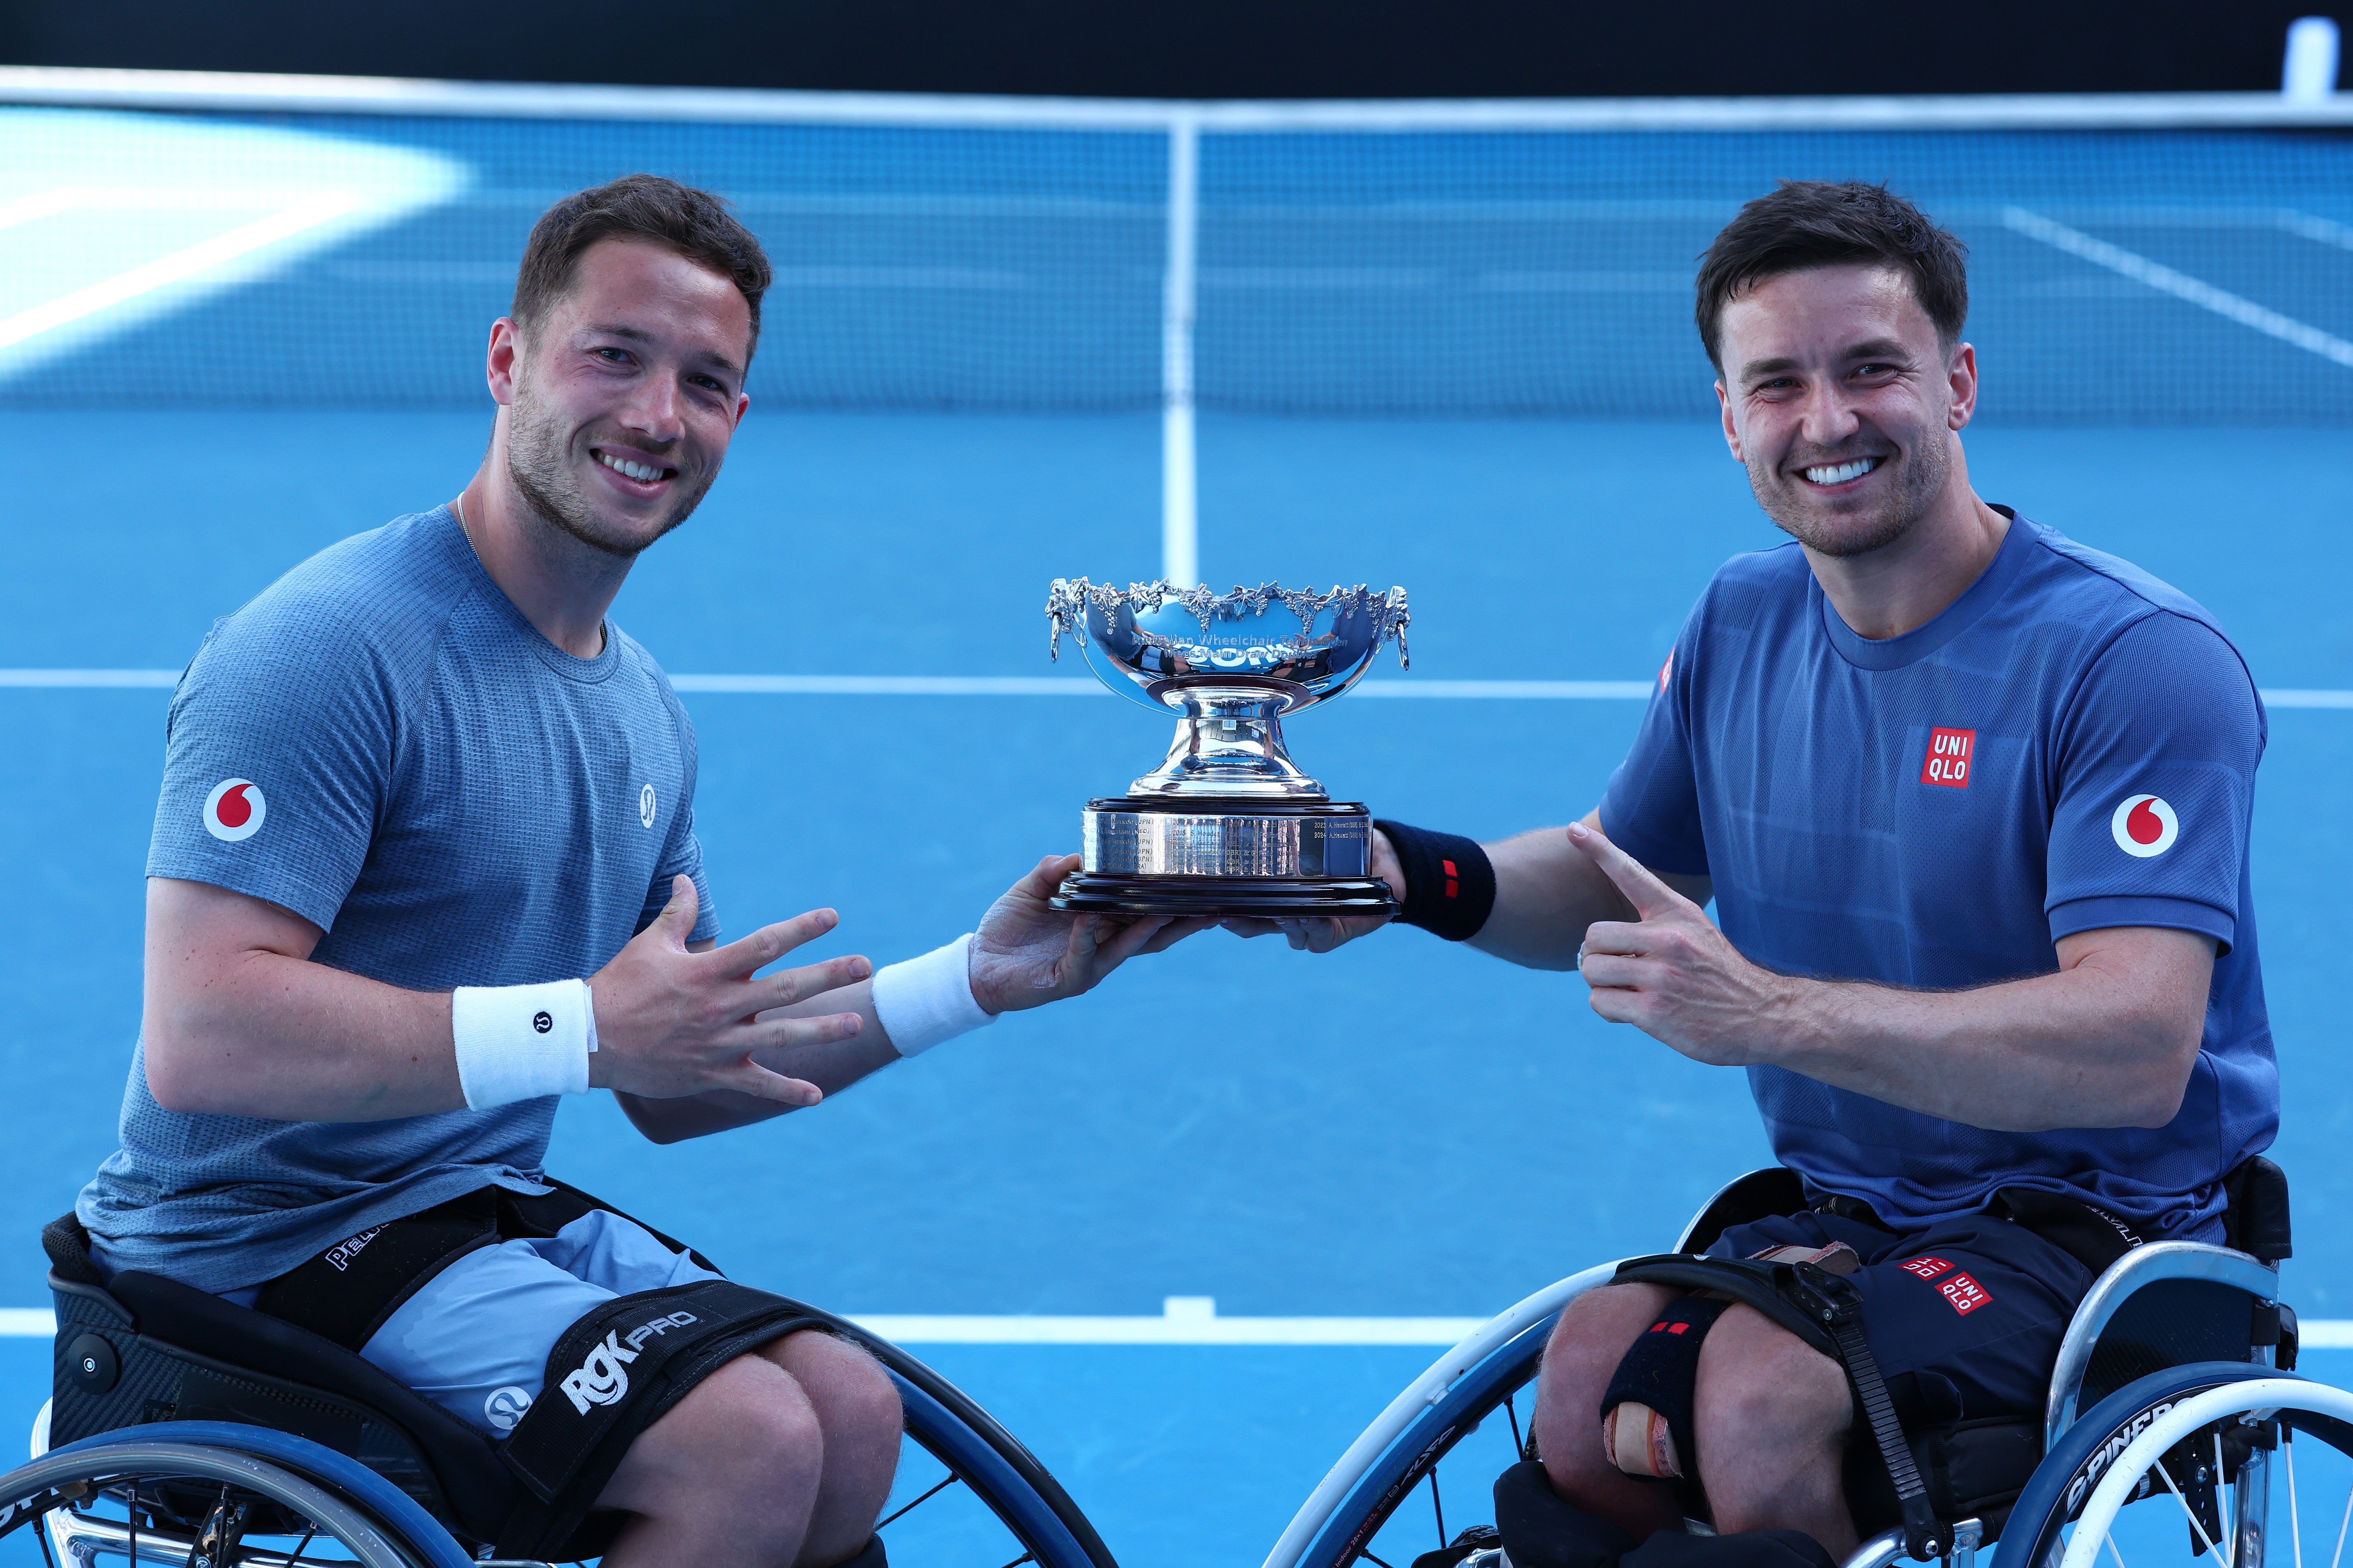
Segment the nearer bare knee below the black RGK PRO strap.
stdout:
[[826,1467],[816,1410],[776,1363],[736,1356],[638,1434],[600,1507],[635,1514],[605,1568],[793,1568]]

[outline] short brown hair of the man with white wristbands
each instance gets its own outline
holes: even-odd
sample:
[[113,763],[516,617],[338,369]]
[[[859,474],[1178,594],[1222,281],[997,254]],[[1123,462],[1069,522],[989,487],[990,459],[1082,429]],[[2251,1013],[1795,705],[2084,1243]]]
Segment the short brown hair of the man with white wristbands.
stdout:
[[751,350],[760,346],[760,296],[772,277],[767,252],[727,212],[725,197],[659,174],[624,174],[574,190],[539,214],[522,247],[511,315],[534,327],[572,289],[581,256],[598,240],[661,244],[732,282],[751,306],[751,339],[744,343],[744,362],[751,364]]

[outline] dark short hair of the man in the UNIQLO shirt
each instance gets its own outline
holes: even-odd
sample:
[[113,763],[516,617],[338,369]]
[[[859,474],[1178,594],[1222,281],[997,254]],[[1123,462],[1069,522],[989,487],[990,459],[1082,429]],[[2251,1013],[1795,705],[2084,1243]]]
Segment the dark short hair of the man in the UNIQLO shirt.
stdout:
[[1887,186],[1784,179],[1741,207],[1699,259],[1699,341],[1725,369],[1718,322],[1741,289],[1817,266],[1880,263],[1911,273],[1946,348],[1969,317],[1969,247]]

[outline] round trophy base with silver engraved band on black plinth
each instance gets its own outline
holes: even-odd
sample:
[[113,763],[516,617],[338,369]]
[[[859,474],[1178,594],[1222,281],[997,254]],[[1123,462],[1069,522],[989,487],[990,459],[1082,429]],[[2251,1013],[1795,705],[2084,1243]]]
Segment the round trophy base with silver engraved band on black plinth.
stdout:
[[1294,919],[1395,914],[1372,877],[1372,813],[1351,802],[1257,797],[1092,799],[1085,863],[1056,910]]

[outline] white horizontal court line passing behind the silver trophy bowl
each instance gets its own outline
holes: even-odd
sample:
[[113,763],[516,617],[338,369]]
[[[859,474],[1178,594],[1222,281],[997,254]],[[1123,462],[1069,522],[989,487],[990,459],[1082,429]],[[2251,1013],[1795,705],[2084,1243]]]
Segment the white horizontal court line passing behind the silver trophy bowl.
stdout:
[[[0,686],[169,691],[179,670],[0,670]],[[1087,675],[673,675],[678,691],[751,696],[1111,696]],[[1362,679],[1351,696],[1468,701],[1647,701],[1645,682]],[[2353,691],[2264,686],[2266,708],[2353,708]]]

